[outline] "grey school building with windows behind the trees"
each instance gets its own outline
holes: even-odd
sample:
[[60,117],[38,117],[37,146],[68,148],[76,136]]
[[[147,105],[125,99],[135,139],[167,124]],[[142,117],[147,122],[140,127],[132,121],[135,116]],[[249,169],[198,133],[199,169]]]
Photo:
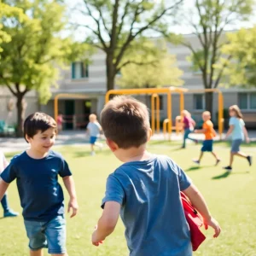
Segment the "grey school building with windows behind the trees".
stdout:
[[[184,36],[193,45],[200,46],[195,35]],[[190,90],[203,89],[200,72],[193,72],[191,63],[187,60],[190,55],[189,49],[183,45],[168,44],[169,52],[177,57],[177,66],[183,70],[183,87]],[[84,99],[70,99],[61,97],[59,100],[59,110],[64,115],[64,129],[84,129],[88,122],[89,113],[99,114],[105,103],[106,94],[106,64],[105,54],[97,51],[92,56],[90,64],[84,65],[82,62],[74,62],[66,69],[61,70],[60,79],[57,81],[58,88],[52,88],[52,96],[47,105],[38,103],[38,95],[31,91],[26,95],[26,115],[35,111],[43,111],[54,115],[54,98],[58,94],[75,94],[84,96]],[[166,84],[166,87],[172,84]],[[256,127],[256,87],[245,90],[239,88],[219,88],[224,94],[224,108],[237,104],[242,109],[247,126]],[[147,96],[138,96],[143,102]],[[201,112],[205,108],[204,93],[185,93],[185,108],[192,113],[195,119],[201,119]],[[8,124],[15,124],[16,109],[10,110],[8,106],[15,106],[15,98],[9,90],[0,86],[0,120],[5,120]],[[148,106],[150,108],[150,106]],[[216,120],[218,113],[218,95],[213,98],[212,119]],[[166,119],[166,96],[160,96],[160,119]],[[179,95],[172,95],[172,119],[179,115]]]

